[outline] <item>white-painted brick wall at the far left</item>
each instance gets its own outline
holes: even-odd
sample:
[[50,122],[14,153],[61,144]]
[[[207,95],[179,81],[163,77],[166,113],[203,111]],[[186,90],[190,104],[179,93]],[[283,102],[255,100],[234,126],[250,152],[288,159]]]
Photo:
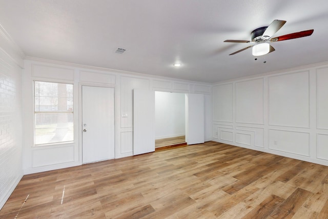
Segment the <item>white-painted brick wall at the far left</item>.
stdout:
[[22,73],[24,54],[0,25],[0,209],[23,176]]

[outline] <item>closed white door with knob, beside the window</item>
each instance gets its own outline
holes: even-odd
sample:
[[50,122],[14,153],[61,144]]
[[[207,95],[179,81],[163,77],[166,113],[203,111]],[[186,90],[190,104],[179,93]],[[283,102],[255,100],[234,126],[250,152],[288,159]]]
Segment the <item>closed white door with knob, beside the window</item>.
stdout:
[[114,88],[82,86],[82,162],[114,158]]

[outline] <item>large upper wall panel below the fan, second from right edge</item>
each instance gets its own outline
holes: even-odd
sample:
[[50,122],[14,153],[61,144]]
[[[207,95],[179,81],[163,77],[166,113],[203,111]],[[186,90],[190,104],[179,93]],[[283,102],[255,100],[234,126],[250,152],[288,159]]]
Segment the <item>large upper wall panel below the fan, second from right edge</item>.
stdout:
[[310,128],[310,71],[268,77],[269,125]]

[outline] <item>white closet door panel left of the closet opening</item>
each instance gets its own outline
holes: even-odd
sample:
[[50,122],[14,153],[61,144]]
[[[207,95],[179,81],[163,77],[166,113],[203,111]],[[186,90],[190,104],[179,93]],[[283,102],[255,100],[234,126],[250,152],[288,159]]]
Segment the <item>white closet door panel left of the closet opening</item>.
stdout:
[[133,90],[133,155],[155,151],[155,91]]

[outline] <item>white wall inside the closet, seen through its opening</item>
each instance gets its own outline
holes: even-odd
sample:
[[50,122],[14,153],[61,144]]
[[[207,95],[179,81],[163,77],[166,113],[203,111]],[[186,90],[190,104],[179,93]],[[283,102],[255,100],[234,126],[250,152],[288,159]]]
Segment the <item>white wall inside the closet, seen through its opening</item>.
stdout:
[[185,94],[155,92],[155,139],[185,135]]

